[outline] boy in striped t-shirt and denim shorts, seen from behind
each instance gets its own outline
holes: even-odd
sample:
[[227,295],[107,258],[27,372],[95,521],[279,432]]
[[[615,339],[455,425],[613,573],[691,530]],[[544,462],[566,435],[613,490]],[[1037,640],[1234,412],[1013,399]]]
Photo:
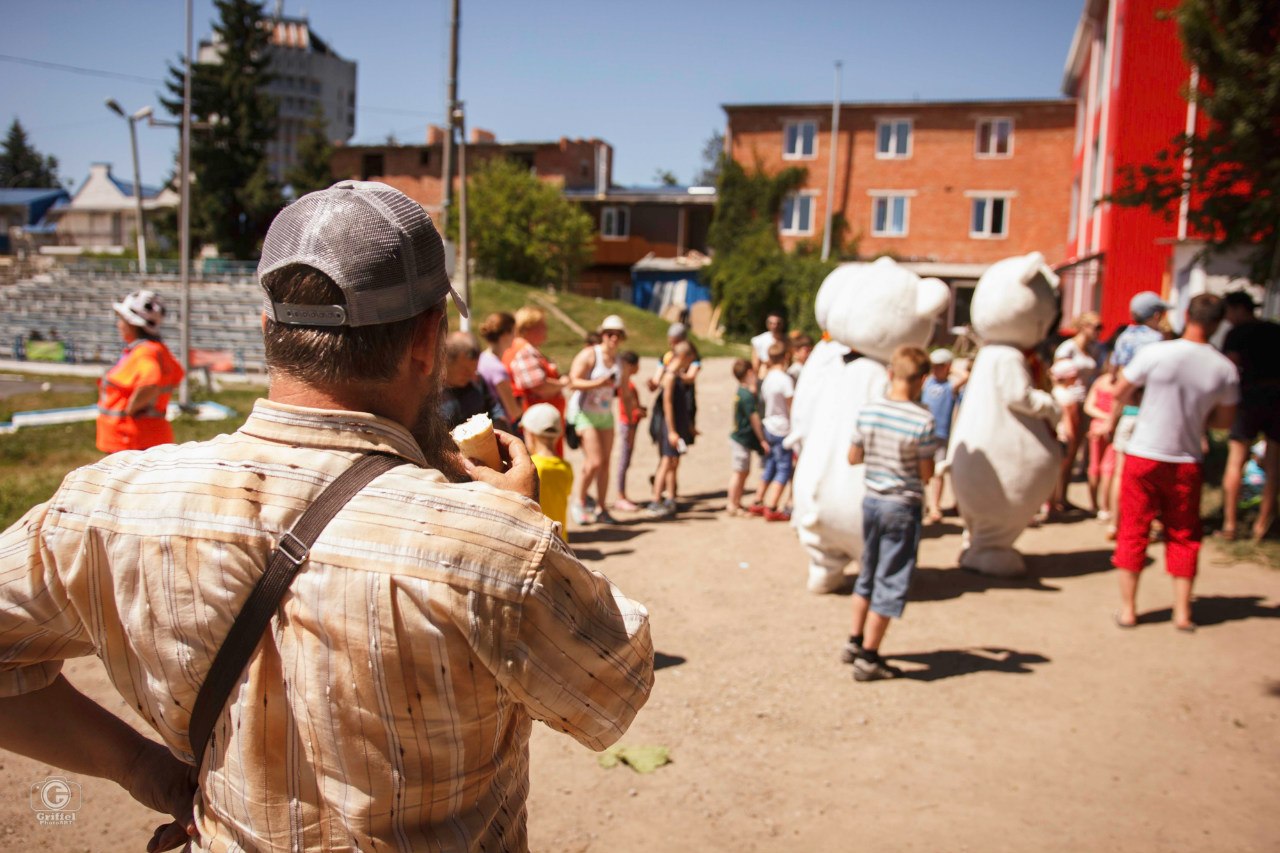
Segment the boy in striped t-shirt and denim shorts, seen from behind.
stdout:
[[879,647],[890,620],[899,619],[906,605],[937,442],[933,415],[919,403],[929,356],[919,347],[899,347],[888,373],[888,393],[858,412],[849,447],[850,465],[867,464],[863,567],[854,585],[854,633],[842,654],[858,681],[902,674],[881,660]]

